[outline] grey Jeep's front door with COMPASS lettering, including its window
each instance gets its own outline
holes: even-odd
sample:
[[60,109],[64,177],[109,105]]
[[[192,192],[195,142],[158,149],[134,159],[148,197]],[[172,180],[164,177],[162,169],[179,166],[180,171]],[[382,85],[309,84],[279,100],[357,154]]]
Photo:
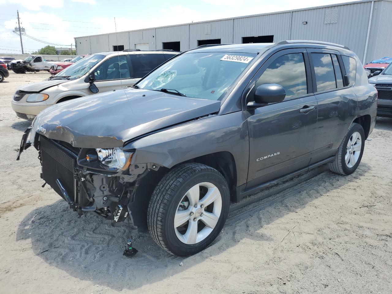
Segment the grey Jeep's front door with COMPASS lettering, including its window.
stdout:
[[249,110],[247,189],[309,164],[318,111],[310,81],[305,49],[272,55],[252,80],[254,88],[263,83],[279,84],[285,88],[286,97],[282,102]]

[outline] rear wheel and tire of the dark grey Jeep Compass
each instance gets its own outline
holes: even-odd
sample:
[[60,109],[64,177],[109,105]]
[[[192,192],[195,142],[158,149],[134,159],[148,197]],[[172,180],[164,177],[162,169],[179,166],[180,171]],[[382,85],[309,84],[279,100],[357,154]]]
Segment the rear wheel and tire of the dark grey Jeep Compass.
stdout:
[[[357,134],[359,134],[360,138],[356,138]],[[350,146],[353,146],[352,148],[349,148],[348,146],[349,141]],[[365,132],[359,123],[352,123],[339,146],[334,161],[328,164],[330,171],[346,176],[352,174],[361,162],[364,147]],[[346,161],[346,156],[348,156],[348,163]]]

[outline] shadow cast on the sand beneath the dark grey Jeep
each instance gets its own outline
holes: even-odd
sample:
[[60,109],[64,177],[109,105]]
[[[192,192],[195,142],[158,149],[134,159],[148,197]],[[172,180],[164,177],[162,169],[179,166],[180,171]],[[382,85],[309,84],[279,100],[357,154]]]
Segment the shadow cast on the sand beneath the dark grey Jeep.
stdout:
[[[36,208],[25,216],[18,227],[16,240],[30,239],[33,252],[37,256],[48,265],[64,270],[75,278],[89,280],[118,291],[138,289],[143,285],[183,272],[210,256],[225,252],[228,247],[240,241],[237,237],[230,238],[235,234],[236,227],[238,229],[244,221],[249,221],[255,215],[263,216],[268,209],[271,218],[263,219],[263,223],[256,222],[253,225],[254,232],[246,237],[260,241],[260,246],[263,246],[263,241],[273,240],[265,233],[256,232],[263,225],[272,223],[294,210],[300,211],[320,195],[339,189],[354,178],[365,176],[369,169],[367,164],[361,163],[353,175],[343,177],[325,171],[324,168],[322,173],[305,182],[303,176],[299,176],[272,187],[271,191],[277,191],[276,187],[284,188],[284,185],[291,183],[287,186],[291,187],[290,189],[230,212],[223,234],[220,234],[209,248],[188,258],[168,254],[152,241],[148,233],[137,232],[132,234],[135,240],[134,246],[139,253],[134,258],[125,258],[122,252],[129,236],[126,223],[113,227],[110,221],[94,213],[77,218],[76,213],[73,213],[62,200]],[[295,185],[292,185],[292,181]],[[323,185],[323,192],[314,193],[314,190],[319,189],[321,185]],[[45,189],[51,188],[47,186]],[[299,194],[304,192],[306,197],[301,197],[299,200]],[[258,196],[263,193],[265,191],[253,197],[263,198]],[[53,248],[58,245],[61,246]],[[49,250],[41,253],[45,249]],[[183,267],[179,266],[181,261]]]

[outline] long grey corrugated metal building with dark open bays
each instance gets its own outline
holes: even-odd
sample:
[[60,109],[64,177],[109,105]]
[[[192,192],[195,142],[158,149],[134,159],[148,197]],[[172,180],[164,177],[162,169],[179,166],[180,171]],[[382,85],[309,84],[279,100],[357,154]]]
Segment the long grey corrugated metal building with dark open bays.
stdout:
[[75,38],[78,54],[123,49],[185,51],[203,44],[318,40],[348,46],[363,62],[392,56],[392,0],[356,1]]

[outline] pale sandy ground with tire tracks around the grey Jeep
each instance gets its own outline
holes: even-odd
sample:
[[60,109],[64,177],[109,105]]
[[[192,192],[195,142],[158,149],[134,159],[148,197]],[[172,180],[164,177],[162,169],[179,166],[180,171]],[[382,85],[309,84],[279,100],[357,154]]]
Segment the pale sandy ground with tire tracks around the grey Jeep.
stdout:
[[35,149],[15,161],[29,122],[11,98],[47,76],[0,83],[0,293],[391,293],[392,119],[377,120],[351,176],[321,168],[253,196],[278,192],[231,212],[213,245],[188,258],[135,232],[140,251],[127,259],[124,225],[77,218],[41,188]]

